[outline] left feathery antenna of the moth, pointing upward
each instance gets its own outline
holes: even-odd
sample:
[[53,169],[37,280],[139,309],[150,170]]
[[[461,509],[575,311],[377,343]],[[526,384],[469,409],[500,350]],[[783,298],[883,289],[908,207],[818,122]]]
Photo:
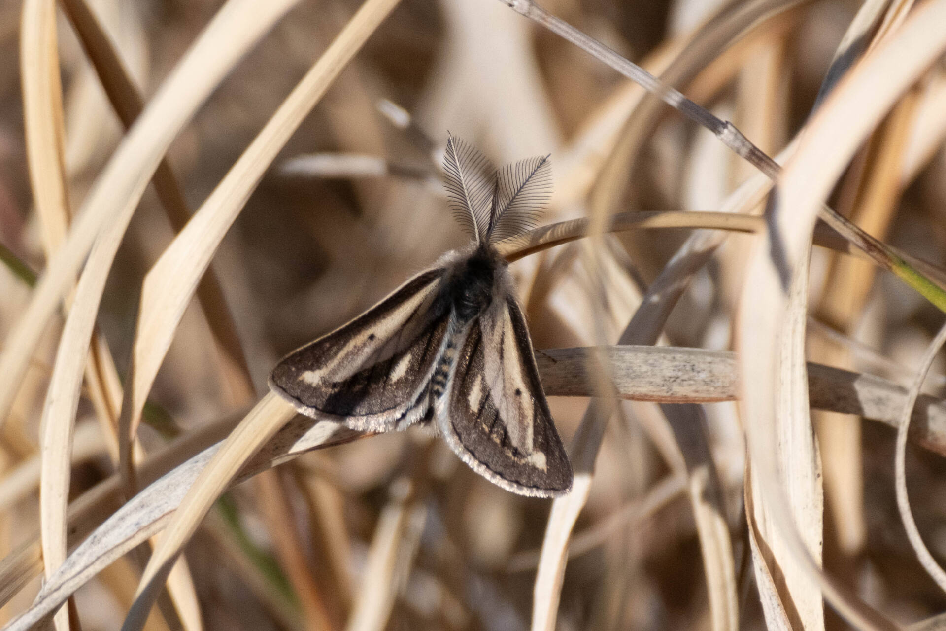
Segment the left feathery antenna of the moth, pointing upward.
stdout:
[[473,146],[449,134],[444,152],[444,176],[447,203],[453,217],[477,243],[484,242],[490,232],[496,167]]

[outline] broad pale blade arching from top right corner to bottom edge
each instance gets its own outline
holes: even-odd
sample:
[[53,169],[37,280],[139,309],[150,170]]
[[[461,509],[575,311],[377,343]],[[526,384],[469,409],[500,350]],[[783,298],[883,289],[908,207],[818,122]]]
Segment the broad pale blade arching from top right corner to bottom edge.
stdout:
[[[946,3],[930,2],[918,9],[896,35],[842,80],[815,114],[783,173],[771,232],[750,260],[740,309],[743,410],[745,418],[753,419],[749,446],[755,479],[773,499],[774,521],[797,561],[821,582],[825,598],[850,622],[864,628],[892,628],[893,624],[817,570],[792,524],[777,466],[767,456],[776,445],[778,349],[785,325],[786,290],[807,252],[820,203],[880,116],[942,54],[946,35],[934,26],[942,20],[946,20]],[[882,88],[880,78],[884,78]],[[787,208],[792,209],[790,213],[778,212]]]

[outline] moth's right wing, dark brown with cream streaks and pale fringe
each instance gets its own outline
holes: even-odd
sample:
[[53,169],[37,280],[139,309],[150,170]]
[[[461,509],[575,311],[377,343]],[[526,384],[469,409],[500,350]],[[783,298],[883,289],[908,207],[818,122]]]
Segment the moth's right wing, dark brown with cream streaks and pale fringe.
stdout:
[[512,296],[498,297],[470,325],[438,412],[447,444],[490,482],[543,498],[571,489],[569,457]]

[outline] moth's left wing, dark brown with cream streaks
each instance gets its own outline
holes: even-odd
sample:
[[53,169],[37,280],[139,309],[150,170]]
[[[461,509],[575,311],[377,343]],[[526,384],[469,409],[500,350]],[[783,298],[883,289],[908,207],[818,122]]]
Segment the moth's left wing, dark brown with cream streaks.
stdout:
[[351,429],[403,429],[429,408],[427,388],[447,331],[444,269],[414,276],[375,307],[289,354],[270,386],[295,408]]

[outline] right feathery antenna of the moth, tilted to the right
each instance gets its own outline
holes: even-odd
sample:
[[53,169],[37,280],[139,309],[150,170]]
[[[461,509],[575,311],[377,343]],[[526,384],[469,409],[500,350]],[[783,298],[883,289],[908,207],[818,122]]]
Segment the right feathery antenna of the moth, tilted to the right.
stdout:
[[489,242],[516,237],[534,228],[552,197],[551,155],[526,158],[499,169]]

